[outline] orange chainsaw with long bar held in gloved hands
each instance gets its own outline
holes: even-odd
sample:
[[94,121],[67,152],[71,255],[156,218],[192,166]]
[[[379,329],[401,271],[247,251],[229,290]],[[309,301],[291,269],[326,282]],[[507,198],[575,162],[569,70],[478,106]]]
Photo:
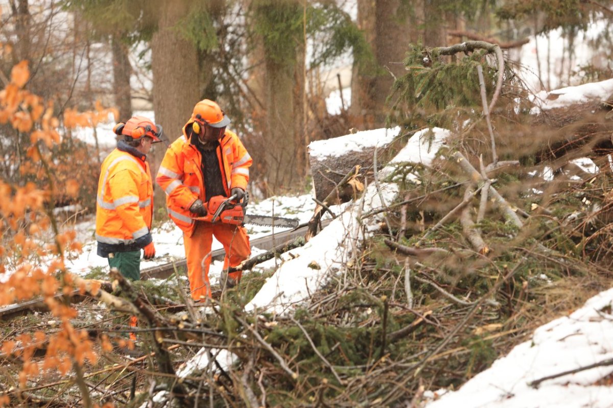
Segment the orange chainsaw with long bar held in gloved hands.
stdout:
[[223,195],[215,195],[205,204],[207,215],[196,217],[199,221],[223,222],[224,224],[243,225],[268,225],[270,227],[296,228],[299,221],[293,218],[271,217],[245,214],[245,207],[249,202],[249,194],[245,192],[242,202],[237,202],[236,195],[227,198]]

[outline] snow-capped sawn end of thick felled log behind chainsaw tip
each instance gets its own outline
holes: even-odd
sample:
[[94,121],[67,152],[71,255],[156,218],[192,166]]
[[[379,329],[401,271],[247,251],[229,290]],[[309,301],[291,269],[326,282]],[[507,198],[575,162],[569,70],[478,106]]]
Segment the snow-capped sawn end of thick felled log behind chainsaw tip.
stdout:
[[[377,162],[382,163],[390,143],[400,133],[400,128],[364,130],[345,136],[311,142],[309,163],[313,176],[313,191],[320,202],[328,196],[345,175],[359,165],[357,177],[364,183],[364,177],[373,173],[373,154],[377,149]],[[339,186],[338,196],[327,205],[334,205],[351,200],[354,186]]]

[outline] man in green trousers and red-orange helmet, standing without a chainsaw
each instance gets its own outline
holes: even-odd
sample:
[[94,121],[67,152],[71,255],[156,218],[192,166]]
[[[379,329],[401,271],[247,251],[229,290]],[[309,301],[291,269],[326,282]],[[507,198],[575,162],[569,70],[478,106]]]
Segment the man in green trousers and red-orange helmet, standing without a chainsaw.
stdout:
[[[153,179],[147,159],[151,144],[160,142],[162,127],[143,116],[115,125],[123,136],[102,162],[96,200],[97,254],[109,259],[127,279],[140,279],[140,249],[143,257],[155,256],[151,238]],[[130,327],[137,326],[136,316]],[[130,333],[132,340],[136,339]]]

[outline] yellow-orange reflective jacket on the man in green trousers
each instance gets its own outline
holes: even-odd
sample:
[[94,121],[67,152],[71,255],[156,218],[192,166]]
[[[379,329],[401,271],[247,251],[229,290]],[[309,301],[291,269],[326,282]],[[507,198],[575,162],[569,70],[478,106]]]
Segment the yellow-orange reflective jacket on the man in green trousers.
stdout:
[[152,219],[149,164],[144,154],[121,141],[102,162],[96,203],[98,255],[108,257],[147,246]]

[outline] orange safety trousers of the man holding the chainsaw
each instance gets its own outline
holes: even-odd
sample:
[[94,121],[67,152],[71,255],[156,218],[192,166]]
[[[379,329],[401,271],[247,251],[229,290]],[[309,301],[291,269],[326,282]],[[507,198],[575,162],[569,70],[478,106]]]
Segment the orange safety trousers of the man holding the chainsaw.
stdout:
[[[211,296],[208,268],[211,265],[211,244],[213,235],[224,246],[224,269],[237,266],[251,255],[249,236],[244,227],[232,224],[196,221],[192,236],[183,234],[185,257],[188,264],[189,291],[192,299],[199,301]],[[243,272],[229,273],[238,281]]]

